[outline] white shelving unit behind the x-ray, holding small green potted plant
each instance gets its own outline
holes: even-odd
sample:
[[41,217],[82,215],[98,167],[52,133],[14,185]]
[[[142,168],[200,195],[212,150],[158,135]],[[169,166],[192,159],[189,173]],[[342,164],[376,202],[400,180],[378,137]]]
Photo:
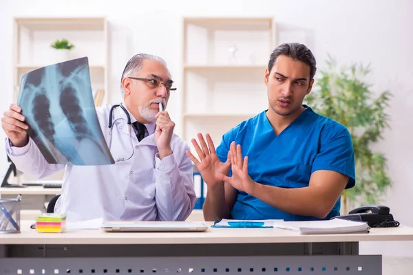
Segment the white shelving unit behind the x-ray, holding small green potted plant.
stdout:
[[[107,102],[108,29],[103,17],[94,18],[15,18],[14,19],[14,97],[17,102],[21,76],[39,67],[87,56],[92,93],[105,91]],[[50,47],[67,39],[74,45],[61,60]]]

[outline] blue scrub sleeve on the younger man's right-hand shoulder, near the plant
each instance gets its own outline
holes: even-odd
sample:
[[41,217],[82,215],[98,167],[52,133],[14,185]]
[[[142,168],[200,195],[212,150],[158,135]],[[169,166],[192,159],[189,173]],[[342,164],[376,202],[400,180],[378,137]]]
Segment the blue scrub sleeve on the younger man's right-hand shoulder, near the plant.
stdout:
[[317,170],[333,170],[350,177],[346,189],[355,185],[355,162],[351,135],[342,124],[326,127],[321,135],[319,152],[311,173]]

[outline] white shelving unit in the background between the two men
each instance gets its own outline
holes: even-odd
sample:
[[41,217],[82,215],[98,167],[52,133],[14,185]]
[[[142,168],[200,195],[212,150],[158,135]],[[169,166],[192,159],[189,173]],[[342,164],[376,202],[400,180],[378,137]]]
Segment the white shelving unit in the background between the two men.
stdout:
[[181,135],[191,150],[197,133],[209,133],[218,146],[226,131],[268,106],[264,72],[274,21],[184,18],[183,28]]

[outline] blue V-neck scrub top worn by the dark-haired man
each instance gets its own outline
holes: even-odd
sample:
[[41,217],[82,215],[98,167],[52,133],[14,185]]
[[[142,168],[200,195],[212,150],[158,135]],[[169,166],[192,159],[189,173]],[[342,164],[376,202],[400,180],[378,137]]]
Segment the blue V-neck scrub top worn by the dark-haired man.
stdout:
[[[248,174],[260,184],[299,188],[308,186],[311,173],[316,170],[333,170],[350,177],[346,188],[352,188],[355,164],[350,133],[343,124],[315,113],[306,105],[304,107],[306,110],[279,135],[275,135],[266,111],[241,122],[222,136],[216,149],[218,157],[226,162],[229,146],[235,141],[241,145],[242,156],[248,156]],[[325,219],[339,215],[339,211],[340,199]],[[231,217],[318,220],[284,212],[240,190]]]

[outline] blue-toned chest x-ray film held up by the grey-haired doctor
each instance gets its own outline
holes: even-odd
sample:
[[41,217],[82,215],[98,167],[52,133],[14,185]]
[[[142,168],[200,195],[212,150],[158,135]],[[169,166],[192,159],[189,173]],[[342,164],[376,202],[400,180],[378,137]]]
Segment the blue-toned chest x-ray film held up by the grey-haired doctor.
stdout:
[[23,75],[17,104],[48,163],[114,164],[98,123],[87,57]]

